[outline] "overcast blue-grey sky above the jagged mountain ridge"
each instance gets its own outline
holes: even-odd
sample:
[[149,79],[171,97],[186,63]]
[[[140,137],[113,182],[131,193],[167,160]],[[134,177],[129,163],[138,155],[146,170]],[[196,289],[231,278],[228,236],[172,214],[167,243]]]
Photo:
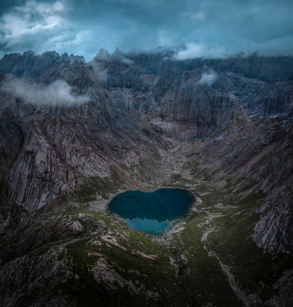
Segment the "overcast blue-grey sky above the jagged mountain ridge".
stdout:
[[293,55],[292,17],[292,0],[1,0],[0,58],[32,49],[89,61],[116,46],[181,48],[179,59]]

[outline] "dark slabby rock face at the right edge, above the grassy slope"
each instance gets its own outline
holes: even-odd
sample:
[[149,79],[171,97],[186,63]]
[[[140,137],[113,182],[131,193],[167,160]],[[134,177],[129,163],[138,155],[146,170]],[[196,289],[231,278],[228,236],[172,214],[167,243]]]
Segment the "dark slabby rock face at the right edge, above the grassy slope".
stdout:
[[254,166],[254,178],[269,194],[255,227],[254,240],[259,247],[274,252],[293,251],[293,125],[260,166]]

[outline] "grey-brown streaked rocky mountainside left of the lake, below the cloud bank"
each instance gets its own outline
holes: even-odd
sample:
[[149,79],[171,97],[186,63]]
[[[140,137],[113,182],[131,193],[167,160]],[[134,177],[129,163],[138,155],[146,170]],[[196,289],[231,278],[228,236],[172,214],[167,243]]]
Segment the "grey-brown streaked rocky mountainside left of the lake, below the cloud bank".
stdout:
[[[60,70],[67,66],[61,64]],[[104,90],[91,87],[94,80],[89,82],[90,70],[79,61],[70,68],[63,77],[78,93],[84,86],[90,88],[88,103],[52,107],[17,96],[14,100],[12,95],[3,105],[10,110],[7,122],[2,123],[9,137],[3,139],[4,179],[11,199],[27,209],[43,206],[85,177],[107,177],[111,168],[138,165],[140,151],[149,152],[147,142],[141,139],[148,137],[116,113]],[[55,81],[59,72],[45,76],[44,83]],[[17,129],[11,128],[12,122],[17,123]]]

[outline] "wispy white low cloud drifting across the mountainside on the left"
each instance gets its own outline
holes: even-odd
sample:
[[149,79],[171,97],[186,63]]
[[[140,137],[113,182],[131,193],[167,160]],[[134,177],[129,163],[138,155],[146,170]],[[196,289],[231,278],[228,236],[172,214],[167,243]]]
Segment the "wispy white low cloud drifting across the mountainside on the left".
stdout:
[[63,80],[57,80],[52,84],[44,86],[36,83],[9,81],[7,89],[25,103],[45,106],[70,106],[82,104],[89,101],[87,95],[75,95],[73,87]]

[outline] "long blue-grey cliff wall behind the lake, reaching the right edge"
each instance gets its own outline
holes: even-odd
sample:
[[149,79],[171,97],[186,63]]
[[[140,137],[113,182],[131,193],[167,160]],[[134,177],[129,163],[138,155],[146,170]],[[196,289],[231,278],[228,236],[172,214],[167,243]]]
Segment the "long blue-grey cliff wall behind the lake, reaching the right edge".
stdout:
[[292,123],[291,57],[175,61],[158,53],[133,55],[130,65],[118,65],[116,58],[114,52],[97,67],[104,76],[100,82],[110,91],[131,88],[135,107],[147,112],[157,132],[177,142],[217,134],[238,107],[252,119],[276,119],[285,128]]

